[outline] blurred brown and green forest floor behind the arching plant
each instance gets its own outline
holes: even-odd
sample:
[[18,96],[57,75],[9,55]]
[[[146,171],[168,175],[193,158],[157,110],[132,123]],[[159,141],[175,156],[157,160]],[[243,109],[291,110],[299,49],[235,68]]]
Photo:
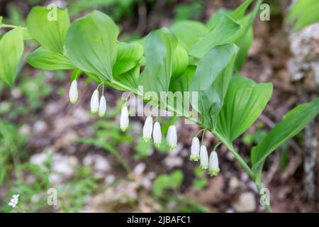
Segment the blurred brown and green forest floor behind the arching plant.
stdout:
[[[266,1],[270,21],[256,19],[254,40],[242,74],[273,82],[274,95],[264,114],[235,141],[250,161],[250,149],[293,106],[318,96],[318,23],[296,33],[285,17],[291,1]],[[121,27],[128,41],[181,20],[206,22],[231,0],[0,0],[5,23],[25,25],[35,5],[69,9],[72,21],[99,9]],[[0,30],[0,33],[3,33]],[[27,52],[36,43],[26,43]],[[0,50],[1,51],[1,50]],[[40,72],[21,65],[16,87],[0,82],[0,211],[19,193],[29,212],[264,212],[253,182],[220,148],[220,175],[209,177],[189,161],[194,125],[177,124],[177,150],[154,149],[141,140],[145,118],[130,118],[127,133],[118,126],[121,92],[108,88],[105,118],[89,114],[95,85],[79,79],[79,101],[69,104],[71,72]],[[161,119],[167,131],[169,119]],[[274,211],[319,211],[318,118],[303,133],[271,155],[263,172]],[[206,133],[208,150],[216,138]],[[58,205],[47,205],[47,189],[57,189]],[[17,210],[18,211],[18,210]]]

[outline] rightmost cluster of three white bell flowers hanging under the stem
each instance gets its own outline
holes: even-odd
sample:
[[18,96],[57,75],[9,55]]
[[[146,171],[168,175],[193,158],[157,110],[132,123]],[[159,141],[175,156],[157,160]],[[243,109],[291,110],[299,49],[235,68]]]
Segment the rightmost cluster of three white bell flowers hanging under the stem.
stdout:
[[218,147],[218,145],[220,145],[220,143],[218,143],[215,146],[215,148],[213,149],[213,151],[208,157],[207,148],[203,144],[203,136],[206,130],[203,129],[202,131],[203,131],[202,145],[200,144],[199,139],[196,135],[191,142],[191,157],[189,158],[189,160],[195,161],[195,162],[199,160],[202,170],[209,170],[209,174],[211,176],[216,176],[220,172],[219,165],[218,165],[218,155],[216,153],[216,148]]

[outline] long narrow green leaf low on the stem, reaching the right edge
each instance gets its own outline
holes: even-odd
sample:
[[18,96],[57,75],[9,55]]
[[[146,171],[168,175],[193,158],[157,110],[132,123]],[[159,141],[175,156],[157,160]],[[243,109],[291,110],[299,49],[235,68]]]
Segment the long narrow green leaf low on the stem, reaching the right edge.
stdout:
[[319,98],[306,104],[296,106],[284,116],[272,131],[256,147],[252,149],[252,170],[260,181],[264,160],[280,145],[293,138],[319,114]]

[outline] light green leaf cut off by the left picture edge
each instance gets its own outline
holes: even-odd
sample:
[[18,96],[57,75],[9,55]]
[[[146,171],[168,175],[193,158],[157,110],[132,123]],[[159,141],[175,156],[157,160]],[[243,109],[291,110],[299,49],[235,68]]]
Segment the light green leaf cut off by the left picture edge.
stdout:
[[24,50],[21,28],[14,28],[1,38],[0,50],[0,78],[12,88]]

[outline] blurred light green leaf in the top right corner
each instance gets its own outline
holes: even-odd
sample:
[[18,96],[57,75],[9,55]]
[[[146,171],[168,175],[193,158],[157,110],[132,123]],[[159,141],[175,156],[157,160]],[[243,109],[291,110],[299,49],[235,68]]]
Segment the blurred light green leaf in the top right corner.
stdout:
[[307,1],[296,1],[286,17],[289,23],[295,23],[293,30],[297,31],[304,28],[316,21],[319,21],[319,1],[318,0],[307,0]]

